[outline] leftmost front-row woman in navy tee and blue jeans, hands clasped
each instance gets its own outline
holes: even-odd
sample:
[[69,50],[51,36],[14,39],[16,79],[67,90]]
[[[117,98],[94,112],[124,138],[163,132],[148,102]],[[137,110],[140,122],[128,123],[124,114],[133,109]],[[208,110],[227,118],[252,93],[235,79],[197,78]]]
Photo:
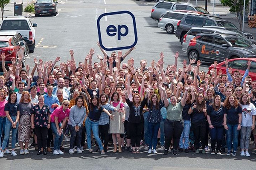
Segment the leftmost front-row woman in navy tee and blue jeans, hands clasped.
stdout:
[[[4,87],[4,86],[3,86]],[[2,93],[2,92],[0,92]],[[2,94],[0,95],[2,96]],[[10,132],[12,130],[12,156],[17,156],[15,153],[15,141],[16,134],[19,126],[19,117],[20,115],[17,113],[18,103],[17,103],[17,94],[12,91],[9,94],[8,102],[4,106],[4,111],[6,113],[6,125],[5,125],[5,136],[3,139],[2,152],[0,153],[0,157],[3,157],[4,153],[9,153],[7,147],[9,144]],[[7,151],[8,150],[8,151]]]

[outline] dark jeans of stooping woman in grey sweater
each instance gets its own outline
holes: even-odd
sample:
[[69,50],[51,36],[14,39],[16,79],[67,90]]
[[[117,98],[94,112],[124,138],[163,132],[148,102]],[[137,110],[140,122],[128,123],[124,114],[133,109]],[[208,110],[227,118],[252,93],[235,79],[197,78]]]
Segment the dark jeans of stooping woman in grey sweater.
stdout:
[[79,130],[76,132],[75,127],[72,125],[68,125],[68,129],[70,130],[71,137],[70,137],[70,149],[73,149],[75,139],[76,139],[76,146],[81,147],[81,139],[82,139],[82,126],[79,127]]

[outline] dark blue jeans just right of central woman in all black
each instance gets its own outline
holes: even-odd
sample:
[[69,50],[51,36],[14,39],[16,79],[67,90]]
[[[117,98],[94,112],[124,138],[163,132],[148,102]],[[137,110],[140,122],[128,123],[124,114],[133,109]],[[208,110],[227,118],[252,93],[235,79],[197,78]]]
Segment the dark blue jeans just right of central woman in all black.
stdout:
[[148,148],[152,148],[153,143],[153,149],[157,148],[157,134],[160,127],[160,123],[151,123],[148,122]]

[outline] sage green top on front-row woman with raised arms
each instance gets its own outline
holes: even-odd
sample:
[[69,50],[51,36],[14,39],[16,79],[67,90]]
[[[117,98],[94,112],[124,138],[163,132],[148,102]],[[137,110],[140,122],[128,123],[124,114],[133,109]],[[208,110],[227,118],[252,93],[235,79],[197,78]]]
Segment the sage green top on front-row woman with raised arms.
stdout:
[[183,106],[181,105],[181,102],[178,102],[175,106],[172,105],[171,102],[169,102],[169,105],[166,107],[167,119],[175,121],[182,120],[182,109]]

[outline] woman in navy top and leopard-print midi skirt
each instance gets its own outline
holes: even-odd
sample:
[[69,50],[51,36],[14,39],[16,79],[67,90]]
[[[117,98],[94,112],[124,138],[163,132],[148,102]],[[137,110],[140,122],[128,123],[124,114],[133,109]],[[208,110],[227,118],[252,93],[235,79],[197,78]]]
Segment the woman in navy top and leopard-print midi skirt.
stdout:
[[[33,104],[31,102],[30,94],[24,91],[21,95],[17,114],[20,115],[18,141],[20,144],[20,155],[29,154],[28,145],[31,134],[31,113]],[[25,151],[23,150],[23,143],[25,143]]]

